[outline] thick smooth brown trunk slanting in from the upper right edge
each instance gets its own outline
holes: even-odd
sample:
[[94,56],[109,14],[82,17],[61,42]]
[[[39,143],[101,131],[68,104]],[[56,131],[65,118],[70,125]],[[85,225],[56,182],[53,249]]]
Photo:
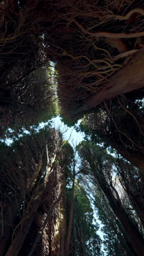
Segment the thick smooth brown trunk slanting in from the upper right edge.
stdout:
[[[141,48],[122,69],[101,86],[101,89],[79,108],[78,115],[98,106],[105,100],[144,87],[144,48]],[[77,116],[76,114],[76,116]]]

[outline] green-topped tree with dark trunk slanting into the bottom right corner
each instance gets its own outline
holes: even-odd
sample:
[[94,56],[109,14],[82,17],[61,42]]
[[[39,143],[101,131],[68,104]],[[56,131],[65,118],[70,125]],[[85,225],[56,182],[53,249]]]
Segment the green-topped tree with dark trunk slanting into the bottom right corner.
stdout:
[[[123,235],[129,247],[132,248],[132,252],[136,255],[142,255],[143,249],[140,249],[140,247],[142,248],[143,237],[129,218],[112,183],[112,157],[105,150],[101,150],[100,147],[91,142],[83,141],[77,146],[77,149],[82,157],[83,165],[85,166],[85,162],[88,163],[92,183],[99,185],[109,202],[110,208],[121,223]],[[141,245],[139,245],[139,242]]]

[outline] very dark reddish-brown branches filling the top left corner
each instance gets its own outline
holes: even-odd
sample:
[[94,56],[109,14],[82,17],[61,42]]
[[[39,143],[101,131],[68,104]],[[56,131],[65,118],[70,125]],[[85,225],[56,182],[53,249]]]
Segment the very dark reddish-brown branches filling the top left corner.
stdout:
[[45,54],[44,51],[40,51],[42,40],[39,37],[39,26],[37,20],[32,19],[32,15],[34,15],[34,7],[31,1],[27,7],[26,1],[1,2],[2,88],[11,88],[26,74],[44,63]]

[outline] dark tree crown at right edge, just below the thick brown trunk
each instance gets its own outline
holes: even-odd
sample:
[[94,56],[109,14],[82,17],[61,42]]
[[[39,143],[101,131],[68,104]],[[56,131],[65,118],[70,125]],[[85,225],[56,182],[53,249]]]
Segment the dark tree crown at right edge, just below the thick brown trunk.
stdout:
[[128,97],[105,102],[82,120],[80,128],[93,142],[115,149],[143,171],[143,106],[133,98],[133,102]]

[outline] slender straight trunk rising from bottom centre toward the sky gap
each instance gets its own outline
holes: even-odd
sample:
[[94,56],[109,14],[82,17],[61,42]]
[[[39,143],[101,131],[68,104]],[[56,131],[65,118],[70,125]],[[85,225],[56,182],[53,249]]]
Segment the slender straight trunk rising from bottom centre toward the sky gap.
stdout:
[[73,226],[73,213],[74,213],[74,190],[75,190],[75,163],[73,166],[73,187],[71,190],[70,217],[69,217],[67,243],[65,248],[65,256],[69,255],[69,248],[70,248],[70,237],[71,237],[71,231]]

